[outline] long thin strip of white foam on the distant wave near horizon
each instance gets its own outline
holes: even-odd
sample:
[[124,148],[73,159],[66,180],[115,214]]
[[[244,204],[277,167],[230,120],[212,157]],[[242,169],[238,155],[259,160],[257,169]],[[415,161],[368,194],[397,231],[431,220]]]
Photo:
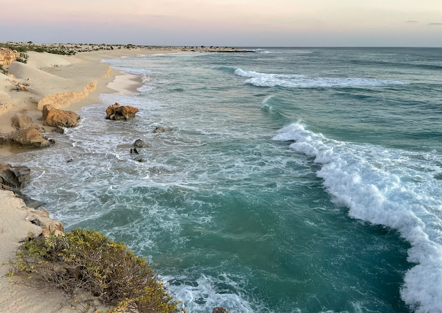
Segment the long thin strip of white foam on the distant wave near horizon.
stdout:
[[281,86],[286,88],[328,88],[328,87],[365,87],[381,85],[403,85],[403,81],[385,81],[378,79],[363,78],[339,78],[339,77],[308,77],[294,74],[267,74],[253,71],[245,71],[240,68],[235,74],[241,77],[249,77],[244,83],[250,83],[258,87]]

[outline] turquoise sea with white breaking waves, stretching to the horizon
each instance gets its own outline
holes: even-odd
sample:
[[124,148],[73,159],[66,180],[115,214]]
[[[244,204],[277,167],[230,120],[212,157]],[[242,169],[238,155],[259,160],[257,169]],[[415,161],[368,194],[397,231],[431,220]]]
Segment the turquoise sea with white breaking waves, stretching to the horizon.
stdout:
[[[6,161],[68,229],[157,263],[189,312],[441,312],[442,50],[257,52],[108,60],[140,94]],[[115,101],[140,113],[107,121]]]

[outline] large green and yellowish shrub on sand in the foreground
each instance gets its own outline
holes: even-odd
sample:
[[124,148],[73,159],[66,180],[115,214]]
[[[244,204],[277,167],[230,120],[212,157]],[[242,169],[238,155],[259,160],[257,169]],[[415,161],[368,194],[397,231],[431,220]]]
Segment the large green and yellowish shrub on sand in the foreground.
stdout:
[[19,247],[15,272],[26,273],[75,294],[78,289],[99,296],[106,305],[140,313],[186,312],[173,299],[146,259],[124,243],[93,230],[73,230],[65,236],[28,236]]

